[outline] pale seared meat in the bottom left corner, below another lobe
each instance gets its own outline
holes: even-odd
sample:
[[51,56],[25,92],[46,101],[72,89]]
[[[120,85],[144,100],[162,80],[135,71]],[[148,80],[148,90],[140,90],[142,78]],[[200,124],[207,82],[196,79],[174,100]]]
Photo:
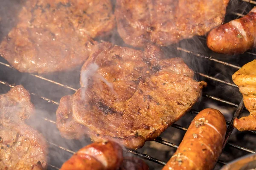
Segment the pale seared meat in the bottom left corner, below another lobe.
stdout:
[[47,144],[43,136],[23,122],[0,120],[0,169],[45,170]]

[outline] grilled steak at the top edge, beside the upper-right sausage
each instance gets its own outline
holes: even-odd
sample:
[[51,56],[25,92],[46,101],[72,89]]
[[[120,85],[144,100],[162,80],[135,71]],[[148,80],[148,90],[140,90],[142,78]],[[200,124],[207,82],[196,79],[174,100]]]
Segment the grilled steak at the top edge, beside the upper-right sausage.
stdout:
[[116,23],[125,43],[170,45],[219,26],[229,0],[116,0]]

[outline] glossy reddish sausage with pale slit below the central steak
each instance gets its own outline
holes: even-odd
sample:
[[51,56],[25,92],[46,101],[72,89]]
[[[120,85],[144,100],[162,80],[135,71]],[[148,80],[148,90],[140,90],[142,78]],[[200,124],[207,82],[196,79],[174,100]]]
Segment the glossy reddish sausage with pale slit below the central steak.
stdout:
[[122,163],[122,147],[115,142],[95,142],[75,153],[61,170],[116,170]]

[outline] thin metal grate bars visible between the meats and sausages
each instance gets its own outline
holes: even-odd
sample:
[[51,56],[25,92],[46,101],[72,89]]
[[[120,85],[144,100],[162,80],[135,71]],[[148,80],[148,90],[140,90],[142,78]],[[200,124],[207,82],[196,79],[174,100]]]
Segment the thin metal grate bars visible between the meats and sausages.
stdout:
[[[242,0],[242,1],[247,2],[247,3],[251,3],[251,4],[256,4],[256,1],[253,1],[253,0]],[[235,15],[237,15],[237,16],[240,16],[240,17],[241,17],[241,16],[244,16],[244,14],[239,14],[239,13],[236,13],[236,12],[233,12],[233,14],[235,14]],[[176,47],[176,50],[177,50],[177,51],[185,52],[185,53],[190,54],[190,55],[192,55],[192,56],[194,56],[194,57],[199,57],[199,58],[202,58],[202,59],[207,59],[207,60],[209,60],[210,62],[216,62],[216,63],[219,63],[219,64],[221,64],[221,65],[225,65],[225,66],[227,66],[227,67],[230,67],[230,68],[233,68],[233,69],[236,69],[236,70],[238,70],[239,68],[241,68],[241,67],[239,67],[239,66],[237,66],[237,65],[234,65],[234,64],[232,64],[232,63],[224,62],[224,61],[221,61],[221,60],[218,60],[218,59],[215,59],[215,58],[206,56],[206,55],[198,54],[198,53],[196,53],[196,52],[193,52],[193,51],[191,51],[191,50],[187,50],[187,49],[184,49],[184,48],[181,48],[181,47]],[[247,52],[246,54],[248,54],[249,56],[252,56],[252,57],[253,57],[253,56],[256,56],[256,54],[255,54],[255,53],[252,53],[252,52]],[[5,62],[0,62],[0,66],[1,66],[1,67],[5,67],[5,68],[11,68],[11,69],[13,69],[11,65],[9,65],[9,64],[7,64],[7,63],[5,63]],[[224,85],[228,85],[228,86],[230,86],[230,87],[232,87],[232,88],[238,88],[237,85],[235,85],[235,84],[233,84],[233,83],[231,83],[231,82],[227,82],[227,81],[224,81],[224,80],[222,80],[222,79],[218,79],[218,78],[209,76],[209,75],[204,74],[204,73],[195,72],[195,74],[197,74],[198,76],[204,77],[204,78],[206,78],[206,79],[210,79],[210,80],[212,80],[212,81],[215,81],[215,82],[218,82],[218,83],[222,83],[222,84],[224,84]],[[70,91],[73,91],[73,92],[77,90],[76,88],[70,87],[70,86],[68,86],[68,85],[61,84],[61,83],[59,83],[59,82],[53,81],[53,80],[51,80],[51,79],[48,79],[48,78],[46,78],[46,77],[42,77],[42,76],[39,76],[39,75],[36,75],[36,74],[29,74],[29,76],[34,77],[35,79],[41,79],[41,80],[43,80],[43,81],[47,81],[47,82],[49,82],[50,84],[58,85],[58,86],[60,86],[61,88],[69,89]],[[8,87],[10,87],[10,88],[13,87],[13,86],[15,86],[14,84],[9,84],[9,82],[3,81],[3,80],[0,81],[0,84],[5,85],[5,86],[8,86]],[[52,104],[54,104],[54,105],[58,105],[58,104],[59,104],[59,103],[56,102],[55,100],[48,99],[48,98],[45,97],[45,96],[41,96],[41,95],[36,94],[36,93],[30,93],[30,94],[31,94],[32,96],[37,96],[37,97],[41,98],[42,100],[47,101],[47,102],[49,102],[49,103],[52,103]],[[233,128],[234,128],[234,127],[233,127],[233,119],[236,118],[236,117],[238,117],[238,116],[240,115],[240,113],[243,111],[243,109],[245,109],[242,100],[241,100],[241,102],[240,102],[239,105],[238,105],[238,104],[236,104],[236,103],[233,103],[233,102],[230,102],[230,101],[227,101],[227,100],[224,100],[224,99],[221,99],[221,98],[219,98],[219,97],[212,96],[212,95],[209,95],[209,94],[203,94],[203,97],[208,98],[208,99],[211,99],[211,100],[216,101],[216,102],[220,102],[220,103],[222,103],[222,104],[224,104],[224,105],[230,105],[230,106],[232,106],[232,107],[236,107],[236,111],[235,111],[235,113],[233,114],[233,118],[231,119],[231,121],[230,121],[230,122],[229,122],[229,121],[226,121],[228,127],[227,127],[227,133],[226,133],[226,137],[225,137],[225,142],[224,142],[223,149],[228,146],[228,147],[233,147],[233,148],[242,150],[242,151],[247,152],[247,153],[255,153],[253,150],[250,150],[250,149],[248,149],[248,148],[245,148],[245,147],[242,147],[242,146],[239,146],[239,145],[232,144],[232,143],[229,143],[229,142],[228,142],[228,139],[230,138],[230,135],[231,135],[231,133],[232,133],[232,131],[233,131]],[[192,113],[192,114],[198,114],[198,111],[192,109],[192,110],[190,111],[190,113]],[[55,114],[55,113],[52,113],[52,114]],[[46,118],[46,117],[41,117],[41,119],[44,120],[44,121],[50,122],[50,123],[52,123],[52,124],[55,124],[55,121],[54,121],[54,120],[48,119],[48,118]],[[180,125],[177,125],[177,124],[173,124],[172,127],[175,127],[175,128],[177,128],[177,129],[183,130],[183,131],[186,131],[186,130],[187,130],[186,127],[183,127],[183,126],[180,126]],[[254,133],[254,134],[255,134],[256,131],[250,131],[250,133]],[[167,146],[173,147],[173,148],[178,148],[178,145],[177,145],[177,144],[164,141],[164,140],[161,139],[160,137],[154,139],[154,142],[158,142],[158,143],[160,143],[160,144],[164,144],[164,145],[167,145]],[[68,152],[68,153],[72,153],[72,154],[75,153],[73,150],[67,149],[67,148],[65,148],[65,147],[61,147],[61,146],[59,146],[58,144],[55,144],[55,143],[52,143],[52,142],[48,142],[48,143],[49,143],[49,145],[51,145],[52,147],[57,147],[57,148],[59,148],[59,149],[61,149],[61,150],[65,150],[65,151]],[[159,159],[153,158],[153,157],[151,157],[151,156],[149,156],[149,155],[147,155],[147,154],[140,153],[140,152],[138,152],[138,151],[136,151],[136,150],[125,149],[125,151],[126,151],[126,152],[129,152],[129,153],[133,153],[134,155],[140,156],[140,157],[143,158],[143,159],[147,159],[147,160],[149,160],[149,161],[156,162],[157,164],[161,164],[161,165],[165,165],[165,164],[166,164],[165,161],[161,161],[161,160],[159,160]],[[222,165],[223,165],[223,164],[226,164],[225,161],[221,161],[221,160],[218,160],[218,163],[219,163],[219,164],[222,164]],[[49,169],[59,169],[59,167],[58,167],[58,166],[55,166],[55,165],[52,165],[52,164],[49,164]]]

